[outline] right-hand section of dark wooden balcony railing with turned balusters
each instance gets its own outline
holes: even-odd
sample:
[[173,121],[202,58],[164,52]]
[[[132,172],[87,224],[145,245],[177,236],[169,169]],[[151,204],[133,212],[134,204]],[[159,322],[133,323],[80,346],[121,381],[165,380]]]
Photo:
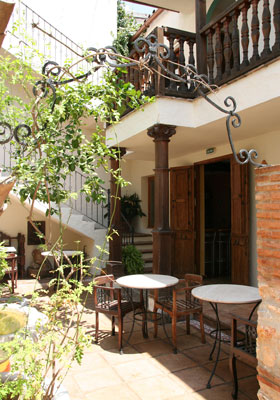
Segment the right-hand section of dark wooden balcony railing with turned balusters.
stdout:
[[221,85],[280,55],[280,1],[238,0],[200,34],[209,82]]

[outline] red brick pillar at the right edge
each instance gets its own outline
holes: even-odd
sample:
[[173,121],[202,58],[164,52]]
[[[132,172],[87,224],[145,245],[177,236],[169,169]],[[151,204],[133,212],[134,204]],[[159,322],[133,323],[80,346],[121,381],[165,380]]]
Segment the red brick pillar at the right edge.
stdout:
[[261,400],[280,399],[280,165],[256,170],[258,380]]

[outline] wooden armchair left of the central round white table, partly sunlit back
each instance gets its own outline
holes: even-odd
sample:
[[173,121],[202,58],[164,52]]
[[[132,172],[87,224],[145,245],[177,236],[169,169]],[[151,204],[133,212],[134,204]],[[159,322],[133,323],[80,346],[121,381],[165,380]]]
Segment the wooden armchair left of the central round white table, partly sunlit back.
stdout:
[[127,296],[128,298],[123,298],[122,289],[114,287],[114,275],[98,276],[94,280],[96,282],[93,287],[95,342],[98,343],[99,313],[111,316],[112,336],[115,335],[115,317],[117,317],[119,330],[118,347],[119,352],[122,353],[123,317],[130,312],[135,312],[138,308],[144,311],[144,305],[141,301],[133,301],[129,296]]

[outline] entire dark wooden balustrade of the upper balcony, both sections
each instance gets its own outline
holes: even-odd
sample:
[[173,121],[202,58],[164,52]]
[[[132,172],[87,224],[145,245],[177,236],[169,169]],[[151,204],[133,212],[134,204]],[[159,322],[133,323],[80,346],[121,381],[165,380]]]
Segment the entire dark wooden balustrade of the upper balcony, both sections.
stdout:
[[[192,64],[199,74],[208,77],[210,84],[221,86],[279,57],[280,3],[238,0],[196,33],[157,27],[147,38],[169,47],[170,55],[164,66],[172,73],[181,76],[185,70],[179,65]],[[144,56],[135,49],[130,53],[136,60]],[[170,80],[160,70],[153,75],[147,70],[130,68],[124,79],[149,95],[196,96],[192,84]]]

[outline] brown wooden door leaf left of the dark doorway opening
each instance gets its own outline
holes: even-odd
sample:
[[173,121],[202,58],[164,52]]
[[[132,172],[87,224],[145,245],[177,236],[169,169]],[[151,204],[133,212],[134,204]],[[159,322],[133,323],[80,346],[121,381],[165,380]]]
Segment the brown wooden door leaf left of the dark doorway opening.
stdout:
[[183,277],[195,271],[194,167],[172,168],[170,183],[174,232],[172,273]]

